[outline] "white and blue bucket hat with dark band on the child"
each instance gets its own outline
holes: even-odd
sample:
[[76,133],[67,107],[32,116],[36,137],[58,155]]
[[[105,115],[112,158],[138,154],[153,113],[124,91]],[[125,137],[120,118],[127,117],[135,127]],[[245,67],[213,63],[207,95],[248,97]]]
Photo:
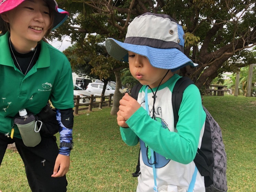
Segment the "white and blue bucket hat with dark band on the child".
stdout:
[[124,42],[107,38],[105,47],[112,57],[128,62],[128,51],[146,56],[152,66],[177,69],[198,66],[184,52],[185,34],[182,26],[169,15],[144,13],[128,26]]

